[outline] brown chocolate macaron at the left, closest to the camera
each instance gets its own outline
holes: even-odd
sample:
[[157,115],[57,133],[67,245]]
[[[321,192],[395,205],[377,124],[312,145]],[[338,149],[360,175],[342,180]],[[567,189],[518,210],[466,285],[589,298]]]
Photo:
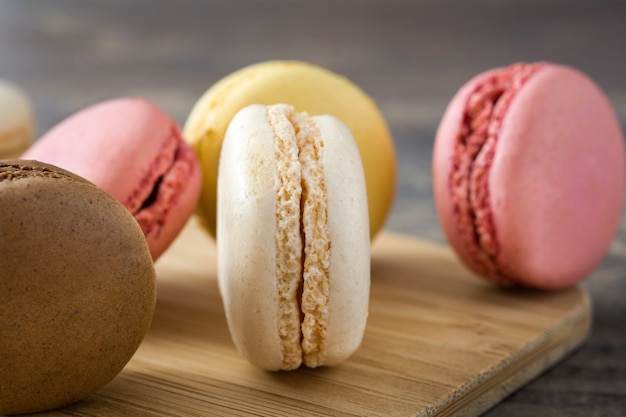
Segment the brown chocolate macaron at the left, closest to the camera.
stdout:
[[0,212],[0,414],[81,400],[150,327],[156,273],[141,228],[95,185],[36,161],[0,161]]

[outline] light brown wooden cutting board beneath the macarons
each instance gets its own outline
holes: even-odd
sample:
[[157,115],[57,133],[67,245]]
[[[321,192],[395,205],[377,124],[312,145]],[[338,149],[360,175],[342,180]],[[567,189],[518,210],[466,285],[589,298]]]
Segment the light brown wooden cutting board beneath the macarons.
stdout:
[[157,263],[152,328],[124,371],[52,416],[474,416],[586,338],[581,288],[504,290],[449,249],[386,233],[372,248],[363,344],[335,368],[264,372],[231,342],[215,246],[192,220]]

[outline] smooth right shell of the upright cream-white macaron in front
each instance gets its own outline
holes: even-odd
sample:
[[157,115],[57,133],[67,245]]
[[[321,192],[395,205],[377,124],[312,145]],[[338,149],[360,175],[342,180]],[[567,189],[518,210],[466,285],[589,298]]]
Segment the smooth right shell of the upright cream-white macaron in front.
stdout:
[[345,361],[360,346],[368,317],[370,239],[363,165],[346,126],[332,116],[316,117],[324,138],[330,250],[329,318],[324,365]]

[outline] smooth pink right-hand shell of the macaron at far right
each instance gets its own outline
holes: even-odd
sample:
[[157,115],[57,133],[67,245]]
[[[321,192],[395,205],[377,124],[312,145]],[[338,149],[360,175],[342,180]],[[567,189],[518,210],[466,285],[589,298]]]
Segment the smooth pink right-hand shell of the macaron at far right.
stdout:
[[624,200],[623,136],[604,93],[574,69],[539,71],[505,116],[489,184],[505,271],[541,288],[588,275]]

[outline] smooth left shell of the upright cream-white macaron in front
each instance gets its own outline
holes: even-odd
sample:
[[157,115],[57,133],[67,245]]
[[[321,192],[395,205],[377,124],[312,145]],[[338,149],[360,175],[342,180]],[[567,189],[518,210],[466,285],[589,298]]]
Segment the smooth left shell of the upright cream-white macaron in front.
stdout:
[[283,358],[274,242],[276,164],[265,107],[243,109],[226,135],[233,139],[224,141],[218,177],[219,288],[237,349],[257,367],[277,370]]

